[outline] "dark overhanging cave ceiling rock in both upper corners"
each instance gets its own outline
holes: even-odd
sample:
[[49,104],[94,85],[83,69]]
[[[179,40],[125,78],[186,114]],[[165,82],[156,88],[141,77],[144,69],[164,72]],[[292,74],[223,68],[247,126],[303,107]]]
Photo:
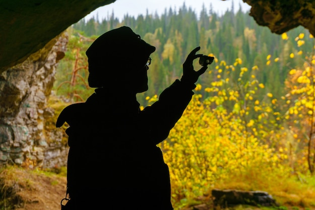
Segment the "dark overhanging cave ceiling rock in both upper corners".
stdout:
[[[0,73],[25,60],[98,7],[115,4],[114,2],[115,0],[0,1]],[[250,16],[257,24],[268,27],[273,33],[282,34],[301,25],[315,35],[313,0],[243,2],[251,6]]]

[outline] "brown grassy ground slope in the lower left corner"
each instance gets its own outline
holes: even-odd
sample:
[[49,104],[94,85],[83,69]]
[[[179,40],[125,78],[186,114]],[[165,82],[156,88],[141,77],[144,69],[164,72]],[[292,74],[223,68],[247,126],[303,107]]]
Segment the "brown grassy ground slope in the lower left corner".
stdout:
[[0,209],[55,210],[65,196],[66,177],[17,167],[1,169]]

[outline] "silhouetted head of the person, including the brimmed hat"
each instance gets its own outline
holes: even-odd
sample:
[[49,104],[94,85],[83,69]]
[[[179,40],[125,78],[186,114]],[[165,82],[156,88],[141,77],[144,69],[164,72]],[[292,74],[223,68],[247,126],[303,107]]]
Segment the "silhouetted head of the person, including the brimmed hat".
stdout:
[[155,47],[129,27],[123,26],[98,37],[87,50],[89,86],[124,87],[136,93],[147,90],[146,63]]

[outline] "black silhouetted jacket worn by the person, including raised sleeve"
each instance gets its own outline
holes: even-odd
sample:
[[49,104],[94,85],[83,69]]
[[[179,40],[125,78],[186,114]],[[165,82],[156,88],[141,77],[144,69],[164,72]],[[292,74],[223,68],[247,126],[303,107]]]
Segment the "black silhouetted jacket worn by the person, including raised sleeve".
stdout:
[[168,137],[192,95],[191,87],[176,80],[142,111],[135,98],[122,95],[114,100],[104,88],[96,89],[85,103],[66,107],[56,126],[69,124],[71,199],[93,194],[107,202],[121,199],[129,206],[134,202],[155,206],[149,209],[171,209],[169,170],[156,145]]

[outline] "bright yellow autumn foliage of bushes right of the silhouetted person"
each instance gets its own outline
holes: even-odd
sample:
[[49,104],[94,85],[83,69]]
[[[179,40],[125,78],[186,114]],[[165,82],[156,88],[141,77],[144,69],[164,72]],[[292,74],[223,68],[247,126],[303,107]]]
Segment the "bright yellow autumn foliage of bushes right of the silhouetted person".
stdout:
[[[304,44],[303,38],[304,34],[296,37],[298,46]],[[282,34],[282,39],[288,39],[286,33]],[[299,50],[289,53],[289,57],[293,59],[303,54]],[[267,65],[274,64],[271,58],[272,55],[266,57]],[[289,178],[292,171],[306,174],[306,150],[300,149],[301,152],[295,154],[292,151],[302,145],[307,133],[304,127],[314,117],[315,56],[309,59],[303,69],[290,70],[288,77],[292,81],[286,81],[287,95],[279,98],[270,87],[266,87],[266,92],[262,90],[265,85],[258,81],[257,65],[249,71],[242,66],[241,58],[235,59],[232,65],[216,60],[209,74],[219,80],[205,87],[208,98],[198,94],[202,87],[197,85],[196,94],[183,116],[160,145],[165,162],[170,166],[172,199],[176,207],[184,206],[187,200],[209,195],[211,189],[224,186],[224,182],[231,183],[235,177],[245,183],[253,181],[251,176],[255,176],[255,180],[274,182]],[[273,60],[278,62],[280,58]],[[236,69],[237,81],[229,78],[226,69],[231,74]],[[233,86],[235,82],[238,86]],[[257,97],[259,92],[267,97]]]

